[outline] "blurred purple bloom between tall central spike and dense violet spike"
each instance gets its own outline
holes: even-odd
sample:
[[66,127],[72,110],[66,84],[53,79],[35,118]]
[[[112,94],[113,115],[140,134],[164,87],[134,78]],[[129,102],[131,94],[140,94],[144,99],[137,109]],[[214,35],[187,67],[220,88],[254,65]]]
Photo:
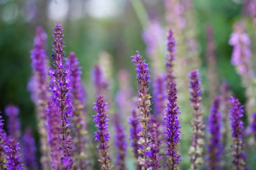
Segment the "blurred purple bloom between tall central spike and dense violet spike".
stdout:
[[162,122],[162,118],[164,115],[164,108],[165,108],[165,81],[163,77],[156,77],[154,81],[154,112],[156,114],[156,118],[158,122]]

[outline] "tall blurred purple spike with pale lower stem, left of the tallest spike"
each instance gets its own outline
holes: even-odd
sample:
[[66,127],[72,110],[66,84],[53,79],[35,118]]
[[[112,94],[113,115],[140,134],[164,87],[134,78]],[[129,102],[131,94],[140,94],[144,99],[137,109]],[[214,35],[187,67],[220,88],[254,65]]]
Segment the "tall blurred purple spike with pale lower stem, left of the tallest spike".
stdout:
[[30,83],[30,91],[32,99],[36,104],[38,112],[38,130],[40,134],[40,150],[42,157],[40,162],[42,163],[43,169],[50,168],[49,160],[49,144],[48,144],[48,133],[46,129],[46,110],[47,102],[49,101],[49,95],[47,93],[47,71],[48,58],[46,56],[45,44],[46,44],[46,33],[41,27],[36,28],[36,36],[34,38],[34,48],[31,51],[33,77]]

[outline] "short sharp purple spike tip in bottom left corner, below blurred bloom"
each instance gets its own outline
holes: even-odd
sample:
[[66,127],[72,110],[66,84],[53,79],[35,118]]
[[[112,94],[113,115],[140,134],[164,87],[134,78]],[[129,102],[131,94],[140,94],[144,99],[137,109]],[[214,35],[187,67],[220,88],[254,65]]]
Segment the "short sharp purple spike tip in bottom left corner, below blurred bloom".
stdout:
[[22,159],[20,158],[20,147],[13,139],[9,139],[5,145],[7,170],[23,170]]

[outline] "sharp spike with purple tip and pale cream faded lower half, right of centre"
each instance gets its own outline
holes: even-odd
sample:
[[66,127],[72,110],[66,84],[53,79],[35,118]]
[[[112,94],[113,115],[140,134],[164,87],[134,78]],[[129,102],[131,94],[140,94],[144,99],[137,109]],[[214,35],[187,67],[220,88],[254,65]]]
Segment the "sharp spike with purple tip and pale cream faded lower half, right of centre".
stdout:
[[194,118],[191,121],[192,126],[192,138],[191,147],[189,149],[191,169],[199,169],[199,166],[203,163],[203,148],[205,146],[204,141],[204,128],[203,123],[203,111],[201,109],[201,83],[199,79],[198,71],[191,71],[189,74],[190,81],[190,94],[191,94],[191,106],[194,109]]

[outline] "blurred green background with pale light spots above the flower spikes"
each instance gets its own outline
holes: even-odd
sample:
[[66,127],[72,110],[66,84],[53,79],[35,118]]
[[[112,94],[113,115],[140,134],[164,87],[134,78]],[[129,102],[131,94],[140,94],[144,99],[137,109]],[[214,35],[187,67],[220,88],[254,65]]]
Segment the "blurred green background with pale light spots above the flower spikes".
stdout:
[[[236,97],[245,103],[245,88],[230,63],[232,47],[228,45],[232,26],[241,18],[245,18],[247,31],[253,37],[254,44],[255,28],[245,10],[245,4],[247,1],[243,0],[193,1],[193,26],[199,42],[199,70],[206,97],[208,91],[205,26],[211,25],[216,43],[218,81],[226,79]],[[172,27],[166,22],[163,0],[0,0],[0,13],[0,109],[3,110],[9,103],[18,105],[22,130],[31,126],[37,140],[35,108],[28,92],[28,81],[32,75],[30,50],[37,26],[42,26],[48,34],[48,53],[51,56],[53,26],[57,22],[63,24],[66,53],[76,52],[82,66],[82,78],[88,91],[88,112],[92,112],[95,98],[92,92],[94,89],[91,69],[100,56],[107,55],[108,61],[111,62],[113,94],[118,90],[117,74],[121,69],[127,69],[131,73],[135,89],[135,72],[130,56],[135,54],[136,50],[143,56],[148,56],[143,41],[143,32],[148,23],[157,21],[164,32],[160,60],[167,54],[165,36],[167,30]],[[151,58],[146,59],[152,62]],[[206,113],[209,112],[209,105],[205,101]]]

